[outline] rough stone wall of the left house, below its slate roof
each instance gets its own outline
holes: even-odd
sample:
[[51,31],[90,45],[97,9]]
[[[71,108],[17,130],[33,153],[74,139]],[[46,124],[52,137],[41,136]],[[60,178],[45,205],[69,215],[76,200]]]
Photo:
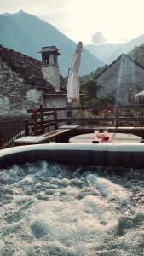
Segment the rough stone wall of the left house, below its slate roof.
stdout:
[[[66,97],[50,96],[49,99],[45,99],[43,93],[37,102],[28,101],[27,92],[30,90],[32,90],[32,86],[26,84],[18,73],[0,60],[0,98],[3,99],[3,102],[9,102],[10,110],[39,108],[40,104],[43,104],[45,108],[66,106]],[[3,104],[1,105],[3,106]]]

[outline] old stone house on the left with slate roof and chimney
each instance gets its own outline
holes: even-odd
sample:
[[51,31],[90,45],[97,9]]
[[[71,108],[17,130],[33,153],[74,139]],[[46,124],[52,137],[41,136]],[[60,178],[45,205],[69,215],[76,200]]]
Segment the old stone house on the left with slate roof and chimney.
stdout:
[[[66,106],[66,79],[59,73],[55,46],[43,47],[42,61],[0,45],[0,107],[10,109]],[[2,109],[1,109],[2,110]]]

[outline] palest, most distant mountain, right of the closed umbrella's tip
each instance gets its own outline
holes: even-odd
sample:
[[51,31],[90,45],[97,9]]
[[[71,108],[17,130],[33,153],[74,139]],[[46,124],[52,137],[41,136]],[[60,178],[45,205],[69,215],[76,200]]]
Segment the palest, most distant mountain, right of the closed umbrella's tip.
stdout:
[[119,55],[121,54],[127,54],[132,49],[135,48],[135,46],[139,46],[144,43],[144,35],[141,35],[137,38],[134,38],[126,43],[121,44],[101,44],[101,45],[95,45],[95,44],[88,44],[84,47],[88,49],[93,55],[95,55],[97,58],[100,58],[101,61],[104,61],[105,63],[109,64],[112,61],[116,60]]

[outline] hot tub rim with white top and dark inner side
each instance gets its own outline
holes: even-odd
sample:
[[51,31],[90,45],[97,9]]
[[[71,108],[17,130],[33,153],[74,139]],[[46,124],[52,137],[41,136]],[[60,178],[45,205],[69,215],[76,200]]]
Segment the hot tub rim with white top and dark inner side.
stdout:
[[77,166],[114,166],[144,169],[143,155],[144,144],[142,143],[28,145],[2,149],[0,151],[0,170],[14,164],[34,163],[39,160]]

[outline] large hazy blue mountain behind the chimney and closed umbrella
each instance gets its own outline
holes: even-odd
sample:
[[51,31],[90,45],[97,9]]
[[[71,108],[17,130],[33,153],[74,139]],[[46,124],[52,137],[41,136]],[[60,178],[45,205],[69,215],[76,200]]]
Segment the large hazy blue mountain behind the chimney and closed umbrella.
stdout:
[[[24,11],[0,15],[0,44],[37,60],[41,59],[38,52],[42,47],[55,45],[61,53],[59,66],[60,73],[64,76],[67,76],[68,68],[71,67],[72,55],[77,45],[55,26]],[[88,74],[103,65],[101,60],[84,49],[79,74]]]

